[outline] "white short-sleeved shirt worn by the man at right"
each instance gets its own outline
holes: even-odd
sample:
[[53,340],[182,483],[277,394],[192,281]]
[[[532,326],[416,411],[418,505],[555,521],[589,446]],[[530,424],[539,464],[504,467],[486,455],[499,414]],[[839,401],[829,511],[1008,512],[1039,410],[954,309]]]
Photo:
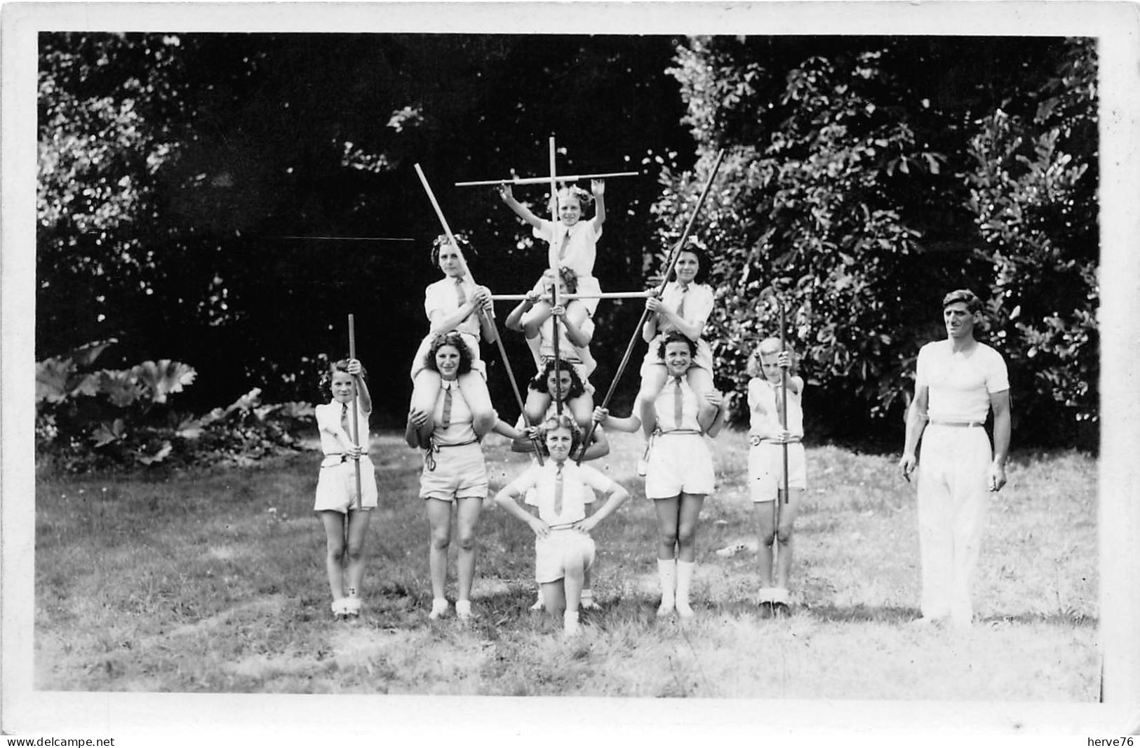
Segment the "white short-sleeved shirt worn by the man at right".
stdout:
[[919,350],[914,385],[929,389],[931,418],[980,422],[990,413],[990,396],[1009,389],[1009,372],[1001,353],[985,343],[954,352],[950,340],[938,340]]

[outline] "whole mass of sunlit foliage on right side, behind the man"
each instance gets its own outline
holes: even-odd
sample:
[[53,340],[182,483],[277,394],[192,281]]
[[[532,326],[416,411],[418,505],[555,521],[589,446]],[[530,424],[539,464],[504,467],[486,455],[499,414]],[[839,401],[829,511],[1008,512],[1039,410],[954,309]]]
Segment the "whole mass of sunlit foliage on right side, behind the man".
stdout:
[[749,351],[779,334],[779,298],[817,425],[881,432],[894,414],[897,428],[942,294],[970,287],[990,301],[983,336],[1010,365],[1018,420],[1061,438],[1094,422],[1094,48],[982,46],[717,36],[678,50],[705,168],[666,170],[654,211],[673,236],[681,196],[726,152],[701,234],[723,387],[739,391]]

